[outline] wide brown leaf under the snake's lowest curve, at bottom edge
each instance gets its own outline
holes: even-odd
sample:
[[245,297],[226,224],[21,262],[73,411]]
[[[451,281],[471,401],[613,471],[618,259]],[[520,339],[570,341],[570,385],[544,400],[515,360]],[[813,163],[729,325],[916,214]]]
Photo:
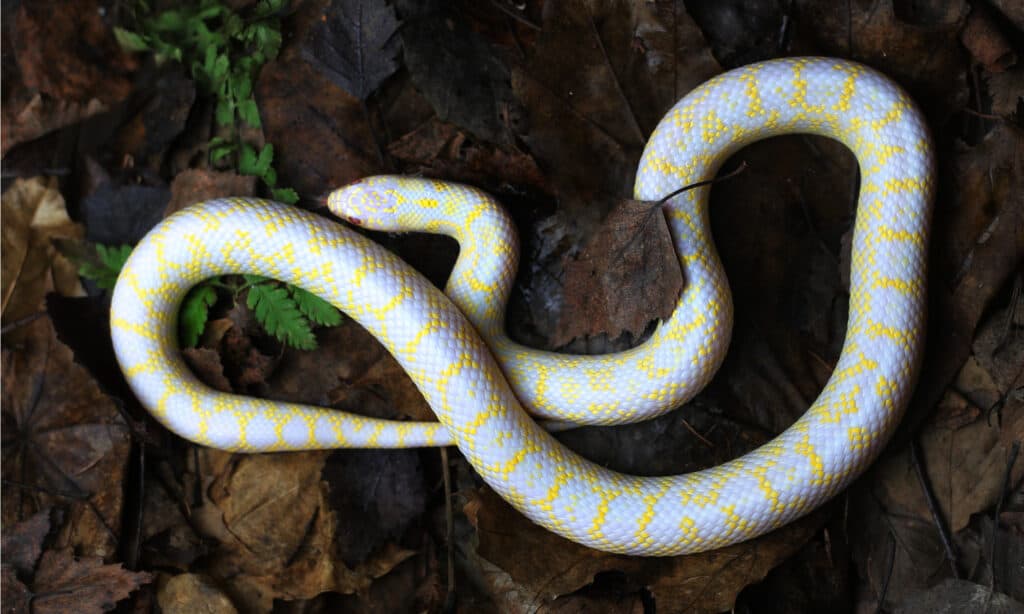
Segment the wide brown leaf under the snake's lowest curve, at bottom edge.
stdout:
[[622,572],[646,586],[658,611],[663,604],[667,612],[728,610],[740,589],[791,556],[824,517],[814,513],[768,535],[710,553],[643,558],[609,555],[563,539],[531,524],[488,489],[472,495],[466,513],[477,529],[477,556],[500,572],[486,578],[493,596],[499,603],[529,604],[529,611],[590,584],[605,571]]

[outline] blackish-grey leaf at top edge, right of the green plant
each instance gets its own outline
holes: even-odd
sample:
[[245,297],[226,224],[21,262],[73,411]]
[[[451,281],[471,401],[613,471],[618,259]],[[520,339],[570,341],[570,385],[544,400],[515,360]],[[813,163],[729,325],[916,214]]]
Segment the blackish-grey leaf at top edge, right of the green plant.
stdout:
[[366,100],[398,70],[398,19],[383,2],[334,0],[303,55],[341,89]]

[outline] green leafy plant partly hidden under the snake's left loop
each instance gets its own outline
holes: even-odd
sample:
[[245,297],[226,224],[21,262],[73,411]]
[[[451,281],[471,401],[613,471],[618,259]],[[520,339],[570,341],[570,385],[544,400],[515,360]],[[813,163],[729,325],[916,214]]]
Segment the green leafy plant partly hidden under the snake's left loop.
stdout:
[[[200,92],[216,98],[216,121],[220,136],[210,140],[210,160],[222,163],[230,157],[243,175],[259,177],[278,201],[299,200],[289,187],[278,187],[273,168],[273,145],[258,150],[242,138],[240,127],[260,127],[259,107],[253,84],[264,63],[281,50],[280,13],[288,0],[259,0],[245,12],[237,12],[223,0],[191,0],[174,8],[155,11],[146,0],[133,5],[131,29],[117,28],[122,46],[152,51],[158,62],[179,61],[188,68]],[[89,258],[79,273],[103,289],[114,288],[131,248],[96,246],[96,259]],[[337,325],[341,313],[330,303],[301,288],[255,275],[208,279],[191,289],[181,303],[178,333],[181,345],[199,343],[218,290],[230,291],[237,300],[248,292],[247,304],[256,321],[281,342],[299,349],[316,347],[311,323]]]

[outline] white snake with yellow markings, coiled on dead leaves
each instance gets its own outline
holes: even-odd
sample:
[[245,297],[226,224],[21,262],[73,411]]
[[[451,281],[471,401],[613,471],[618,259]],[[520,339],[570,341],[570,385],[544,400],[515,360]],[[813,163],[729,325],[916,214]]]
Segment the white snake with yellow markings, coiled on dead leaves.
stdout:
[[[294,206],[217,199],[167,217],[135,247],[112,297],[111,335],[133,393],[190,441],[241,452],[457,445],[532,522],[588,547],[638,556],[710,551],[762,535],[837,495],[880,454],[920,370],[935,186],[930,133],[892,80],[850,60],[794,57],[725,72],[680,99],[650,135],[634,195],[656,202],[714,177],[741,147],[782,134],[836,139],[860,187],[846,337],[806,412],[760,447],[701,471],[618,473],[549,429],[647,420],[693,397],[728,349],[733,306],[711,236],[709,187],[663,211],[686,279],[672,315],[637,347],[596,356],[516,344],[504,332],[518,245],[474,187],[379,176],[331,192],[340,223]],[[351,226],[460,242],[441,292]],[[189,289],[231,273],[323,297],[409,374],[437,422],[378,420],[219,392],[184,363],[177,313]]]

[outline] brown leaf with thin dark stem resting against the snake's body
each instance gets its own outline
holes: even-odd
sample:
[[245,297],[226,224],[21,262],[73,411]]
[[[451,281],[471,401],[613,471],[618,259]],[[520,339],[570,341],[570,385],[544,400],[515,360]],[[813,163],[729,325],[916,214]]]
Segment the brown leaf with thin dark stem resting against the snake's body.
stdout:
[[556,346],[599,334],[638,338],[652,320],[668,319],[683,275],[660,206],[623,201],[566,261],[564,288]]

